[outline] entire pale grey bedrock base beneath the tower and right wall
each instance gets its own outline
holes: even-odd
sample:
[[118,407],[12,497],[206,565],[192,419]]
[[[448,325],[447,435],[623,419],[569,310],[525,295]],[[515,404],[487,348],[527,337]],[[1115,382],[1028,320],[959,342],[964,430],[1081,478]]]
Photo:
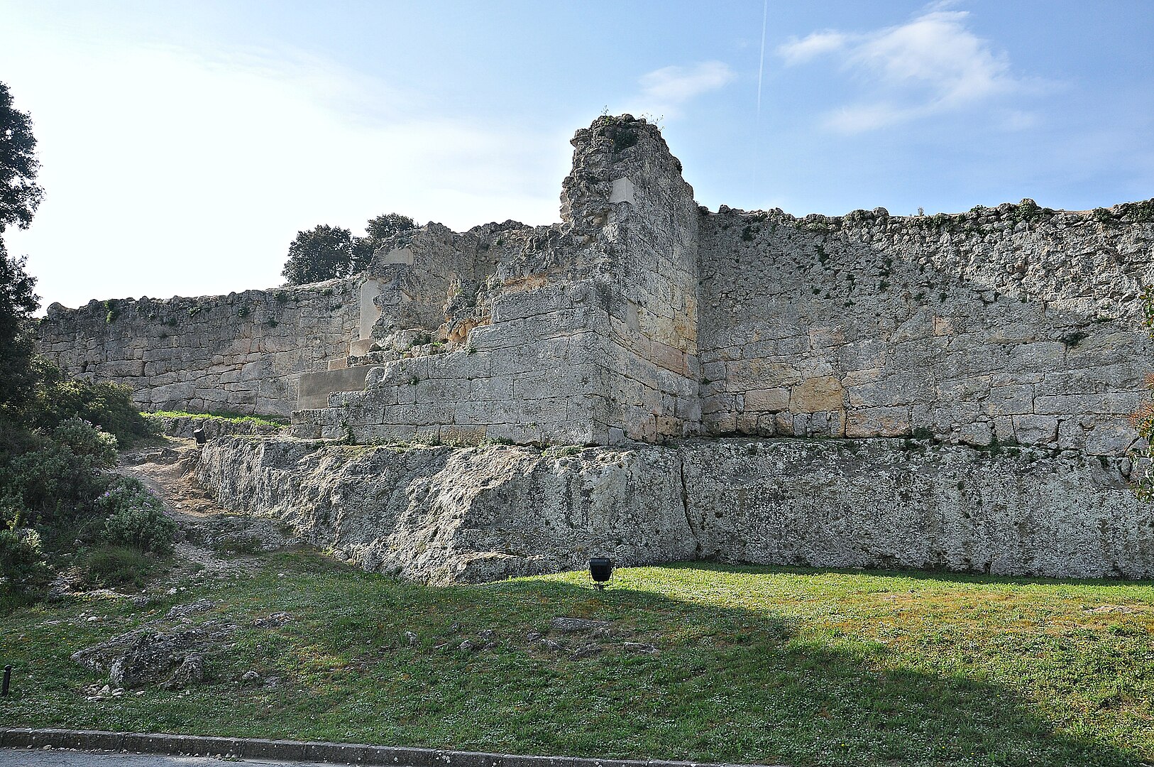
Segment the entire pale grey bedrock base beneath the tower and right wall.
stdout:
[[707,559],[1154,576],[1130,461],[901,439],[670,446],[210,441],[201,482],[365,569],[428,583]]

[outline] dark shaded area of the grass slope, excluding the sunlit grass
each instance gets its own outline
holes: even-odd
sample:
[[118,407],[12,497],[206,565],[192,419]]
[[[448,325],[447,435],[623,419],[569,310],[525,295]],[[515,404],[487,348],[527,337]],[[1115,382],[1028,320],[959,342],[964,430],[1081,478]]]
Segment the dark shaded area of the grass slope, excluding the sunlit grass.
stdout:
[[[1117,715],[1072,717],[1058,731],[1006,684],[966,667],[936,671],[881,642],[802,631],[772,603],[745,610],[668,595],[679,579],[713,588],[714,573],[831,571],[682,564],[619,571],[621,586],[597,593],[540,579],[426,588],[305,554],[268,564],[252,579],[181,597],[209,596],[223,616],[249,626],[235,647],[211,658],[212,684],[183,695],[150,691],[107,706],[77,702],[77,680],[93,679],[66,662],[78,647],[61,634],[57,667],[40,672],[57,676],[55,688],[22,693],[10,721],[797,766],[1121,767],[1141,764],[1138,749],[1148,747],[1117,745],[1127,732]],[[290,569],[293,578],[277,578]],[[278,611],[294,619],[253,626],[254,617]],[[557,616],[607,620],[614,633],[562,634],[550,628]],[[492,646],[470,651],[460,648],[465,640]],[[279,676],[282,685],[237,687],[232,680],[249,669]]]

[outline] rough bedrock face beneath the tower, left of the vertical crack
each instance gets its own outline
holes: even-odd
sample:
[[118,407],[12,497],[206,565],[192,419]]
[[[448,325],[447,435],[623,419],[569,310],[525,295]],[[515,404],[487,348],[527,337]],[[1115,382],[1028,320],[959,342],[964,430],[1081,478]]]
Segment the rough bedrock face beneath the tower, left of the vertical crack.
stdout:
[[691,559],[674,450],[549,456],[494,446],[347,447],[219,438],[198,478],[225,508],[273,515],[366,569],[430,583]]

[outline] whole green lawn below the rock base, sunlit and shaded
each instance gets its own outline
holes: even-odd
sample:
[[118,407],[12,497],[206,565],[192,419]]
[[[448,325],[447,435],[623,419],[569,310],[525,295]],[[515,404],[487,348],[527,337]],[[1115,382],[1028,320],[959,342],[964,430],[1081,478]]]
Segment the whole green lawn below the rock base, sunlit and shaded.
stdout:
[[[683,564],[597,593],[584,573],[425,588],[304,552],[252,561],[145,608],[90,596],[3,617],[0,721],[788,765],[1154,760],[1149,582]],[[201,597],[217,608],[197,620],[241,626],[209,684],[85,700],[97,676],[70,653]],[[254,625],[277,611],[294,619]],[[590,640],[550,633],[555,616],[614,635],[575,658]],[[457,649],[482,631],[492,647]],[[250,669],[282,684],[234,682]]]

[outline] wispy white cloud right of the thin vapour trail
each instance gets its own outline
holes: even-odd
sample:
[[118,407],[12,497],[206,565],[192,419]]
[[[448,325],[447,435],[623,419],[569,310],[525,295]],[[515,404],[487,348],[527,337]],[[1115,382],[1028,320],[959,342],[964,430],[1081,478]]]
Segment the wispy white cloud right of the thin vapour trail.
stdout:
[[1034,88],[1009,58],[966,27],[968,13],[938,2],[913,21],[865,33],[815,32],[778,49],[787,66],[832,55],[863,90],[826,118],[840,133],[872,131],[959,111]]

